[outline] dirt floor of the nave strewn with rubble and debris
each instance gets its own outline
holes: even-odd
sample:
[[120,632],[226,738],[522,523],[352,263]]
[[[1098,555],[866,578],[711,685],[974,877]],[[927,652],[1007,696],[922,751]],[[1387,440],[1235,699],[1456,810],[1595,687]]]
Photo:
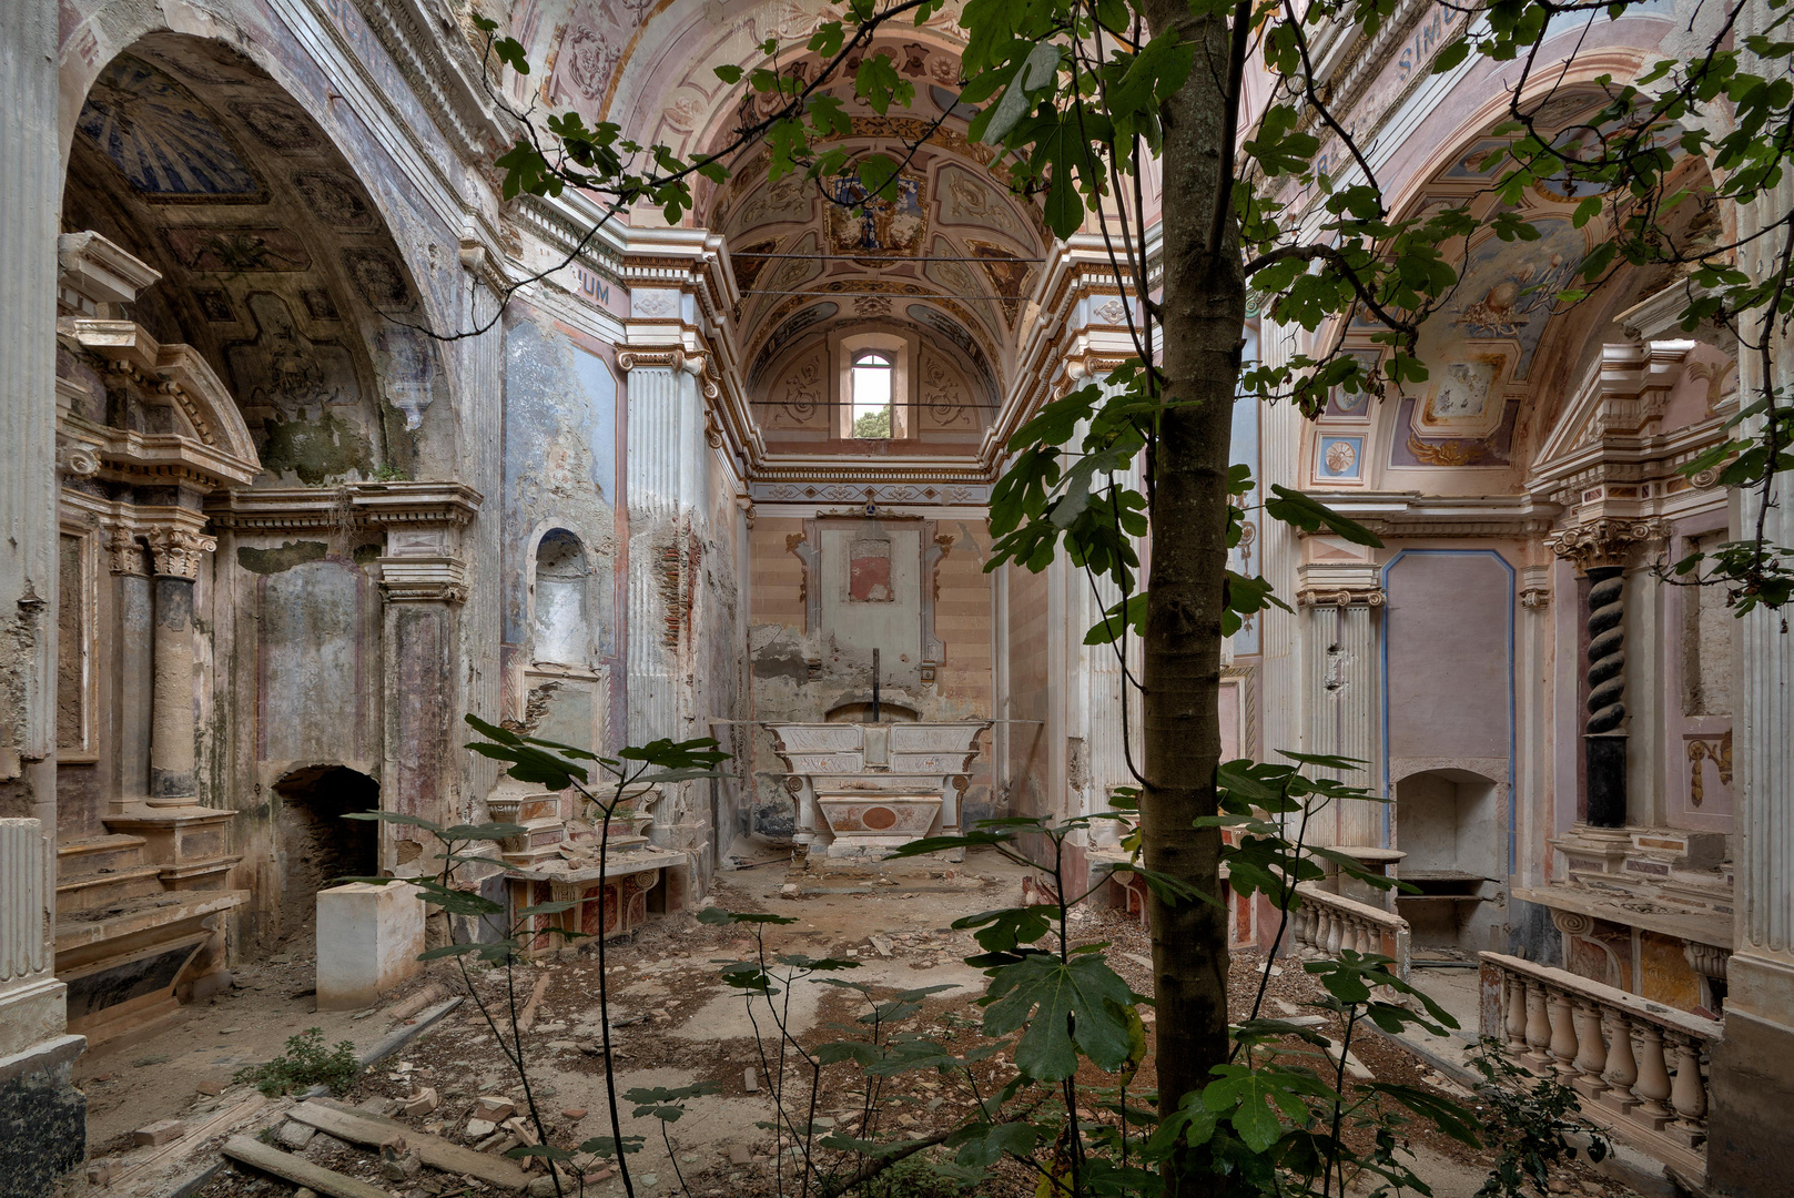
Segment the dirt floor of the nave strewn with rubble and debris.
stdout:
[[[734,911],[795,916],[797,924],[766,929],[770,952],[854,959],[858,968],[831,977],[868,983],[879,999],[890,999],[893,992],[906,988],[945,986],[926,997],[920,1011],[895,1029],[924,1033],[963,1051],[983,1044],[978,1035],[981,1011],[974,1001],[985,977],[962,961],[980,951],[971,934],[951,931],[949,924],[971,911],[1019,902],[1021,877],[1021,870],[988,854],[974,854],[963,864],[927,863],[888,873],[788,875],[782,866],[771,864],[723,875],[710,902]],[[1116,970],[1136,990],[1150,994],[1150,945],[1137,924],[1112,911],[1076,911],[1073,927],[1082,942],[1109,942],[1109,959]],[[689,1191],[698,1198],[771,1198],[797,1193],[791,1184],[795,1150],[789,1133],[775,1141],[771,1128],[762,1126],[775,1119],[773,1099],[780,1085],[784,1108],[791,1117],[813,1117],[818,1128],[843,1135],[920,1139],[954,1126],[974,1110],[972,1085],[936,1072],[902,1074],[884,1083],[875,1101],[868,1103],[865,1078],[852,1062],[822,1071],[814,1107],[809,1107],[811,1074],[797,1067],[795,1053],[788,1051],[784,1062],[779,1060],[777,1022],[784,1022],[811,1047],[859,1038],[867,1026],[854,1020],[867,1011],[867,1001],[852,990],[811,979],[777,995],[775,1020],[775,1011],[764,999],[750,1008],[737,990],[719,979],[719,961],[752,952],[753,942],[743,925],[707,925],[689,913],[655,920],[633,938],[606,945],[608,972],[603,979],[610,992],[617,1090],[675,1089],[694,1081],[716,1085],[714,1094],[691,1099],[685,1114],[671,1124],[649,1116],[633,1119],[631,1107],[624,1105],[623,1135],[644,1137],[642,1151],[630,1157],[637,1194],[648,1198]],[[1250,1006],[1259,981],[1258,967],[1259,961],[1252,956],[1236,956],[1232,961],[1231,992],[1238,1015]],[[199,1094],[203,1081],[217,1089],[219,1080],[228,1081],[242,1063],[271,1058],[287,1035],[303,1028],[323,1028],[327,1040],[348,1038],[366,1049],[393,1031],[389,1011],[418,986],[438,985],[445,992],[465,992],[456,967],[440,963],[429,977],[389,995],[379,1011],[314,1013],[305,994],[310,986],[309,970],[310,965],[301,959],[269,961],[244,970],[240,988],[210,1006],[192,1008],[192,1017],[179,1026],[151,1040],[115,1051],[102,1049],[83,1060],[81,1085],[93,1103],[91,1142],[93,1155],[100,1159],[102,1178],[108,1168],[124,1171],[154,1151],[129,1146],[129,1133],[145,1123],[181,1119],[188,1137],[196,1139],[194,1128],[203,1132],[208,1123],[231,1123],[226,1116],[249,1107],[242,1117],[233,1117],[231,1128],[217,1128],[213,1141],[221,1141],[226,1130],[260,1133],[267,1142],[294,1150],[303,1160],[361,1178],[400,1198],[499,1193],[474,1178],[431,1169],[400,1176],[370,1150],[325,1133],[307,1139],[296,1123],[285,1119],[294,1099],[267,1101],[246,1085],[226,1087],[222,1094]],[[1293,961],[1279,961],[1272,970],[1265,1013],[1304,1011],[1302,1004],[1319,994],[1313,979]],[[364,1072],[339,1101],[456,1142],[484,1146],[488,1151],[502,1151],[515,1139],[506,1139],[502,1128],[468,1126],[475,1103],[484,1096],[506,1098],[518,1110],[535,1099],[554,1142],[578,1144],[608,1135],[605,1067],[599,1055],[599,965],[590,951],[572,959],[515,970],[509,985],[515,986],[517,1004],[527,1011],[527,1029],[522,1033],[531,1078],[527,1094],[515,1069],[495,1049],[475,1003],[463,1003],[448,1019]],[[502,974],[484,977],[477,985],[477,995],[493,1013],[509,1010]],[[755,1029],[761,1031],[759,1040]],[[1381,1081],[1423,1085],[1457,1099],[1467,1098],[1387,1040],[1362,1037],[1354,1040],[1353,1053]],[[1001,1058],[981,1062],[974,1074],[978,1090],[985,1094],[1001,1089],[1014,1076],[1012,1065]],[[1093,1071],[1091,1080],[1096,1078],[1100,1074]],[[1143,1092],[1152,1085],[1148,1063],[1134,1081],[1134,1090]],[[416,1117],[395,1110],[396,1103],[425,1087],[440,1098],[434,1110]],[[875,1112],[870,1119],[868,1110]],[[282,1142],[282,1135],[289,1139]],[[301,1139],[303,1146],[298,1144]],[[197,1164],[215,1162],[213,1141],[188,1144],[190,1157]],[[1406,1144],[1415,1157],[1415,1169],[1439,1198],[1471,1198],[1487,1176],[1484,1153],[1437,1132],[1414,1126]],[[108,1148],[113,1150],[109,1157]],[[160,1191],[142,1189],[142,1168],[138,1175],[126,1176],[127,1182],[135,1178],[136,1189],[126,1184],[97,1193],[174,1193],[167,1187],[172,1182],[156,1182],[165,1185]],[[533,1193],[554,1193],[551,1178],[540,1169],[533,1176]],[[978,1193],[1023,1198],[1033,1194],[1035,1182],[1021,1166],[1005,1166]],[[1554,1178],[1554,1189],[1559,1185],[1559,1193],[1588,1198],[1618,1198],[1625,1193],[1582,1166]],[[565,1193],[581,1189],[594,1198],[623,1193],[621,1182],[603,1164],[569,1178]],[[205,1198],[283,1198],[294,1193],[294,1185],[235,1166],[217,1171],[192,1193]],[[927,1198],[949,1191],[906,1180],[899,1187],[870,1193]]]

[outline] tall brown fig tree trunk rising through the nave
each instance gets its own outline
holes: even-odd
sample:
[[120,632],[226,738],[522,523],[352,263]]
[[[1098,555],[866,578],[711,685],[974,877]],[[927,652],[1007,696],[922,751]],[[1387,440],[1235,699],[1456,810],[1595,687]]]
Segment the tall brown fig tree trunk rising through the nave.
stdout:
[[[1164,414],[1152,463],[1152,563],[1143,651],[1145,864],[1220,898],[1213,816],[1220,760],[1222,599],[1227,464],[1245,328],[1245,273],[1229,203],[1234,136],[1227,99],[1227,14],[1191,16],[1188,0],[1148,0],[1154,34],[1197,47],[1189,81],[1164,106]],[[1220,233],[1216,237],[1216,231]],[[1152,900],[1159,1107],[1177,1110],[1227,1058],[1227,913]],[[1177,1193],[1195,1194],[1184,1178]]]

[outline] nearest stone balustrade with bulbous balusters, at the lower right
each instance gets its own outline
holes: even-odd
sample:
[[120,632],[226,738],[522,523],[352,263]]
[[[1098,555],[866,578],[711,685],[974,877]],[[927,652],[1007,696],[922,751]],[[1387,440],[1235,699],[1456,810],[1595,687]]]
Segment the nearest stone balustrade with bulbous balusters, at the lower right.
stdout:
[[1561,968],[1482,952],[1482,1035],[1582,1114],[1665,1164],[1706,1173],[1706,1067],[1724,1024]]

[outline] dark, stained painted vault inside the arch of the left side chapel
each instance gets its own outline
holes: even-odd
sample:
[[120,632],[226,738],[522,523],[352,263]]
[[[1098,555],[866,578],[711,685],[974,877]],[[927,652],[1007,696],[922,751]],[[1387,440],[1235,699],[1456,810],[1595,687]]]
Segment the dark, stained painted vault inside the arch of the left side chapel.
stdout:
[[454,439],[434,296],[389,188],[366,183],[344,147],[366,152],[310,115],[294,74],[253,38],[174,29],[91,68],[72,57],[63,230],[161,274],[131,316],[213,368],[262,484],[414,477]]

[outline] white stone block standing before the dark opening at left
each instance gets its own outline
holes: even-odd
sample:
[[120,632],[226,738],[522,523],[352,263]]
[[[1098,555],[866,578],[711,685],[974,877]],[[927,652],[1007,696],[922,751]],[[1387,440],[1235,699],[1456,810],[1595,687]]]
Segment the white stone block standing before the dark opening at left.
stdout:
[[318,891],[318,1010],[373,1006],[422,968],[423,902],[405,882]]

